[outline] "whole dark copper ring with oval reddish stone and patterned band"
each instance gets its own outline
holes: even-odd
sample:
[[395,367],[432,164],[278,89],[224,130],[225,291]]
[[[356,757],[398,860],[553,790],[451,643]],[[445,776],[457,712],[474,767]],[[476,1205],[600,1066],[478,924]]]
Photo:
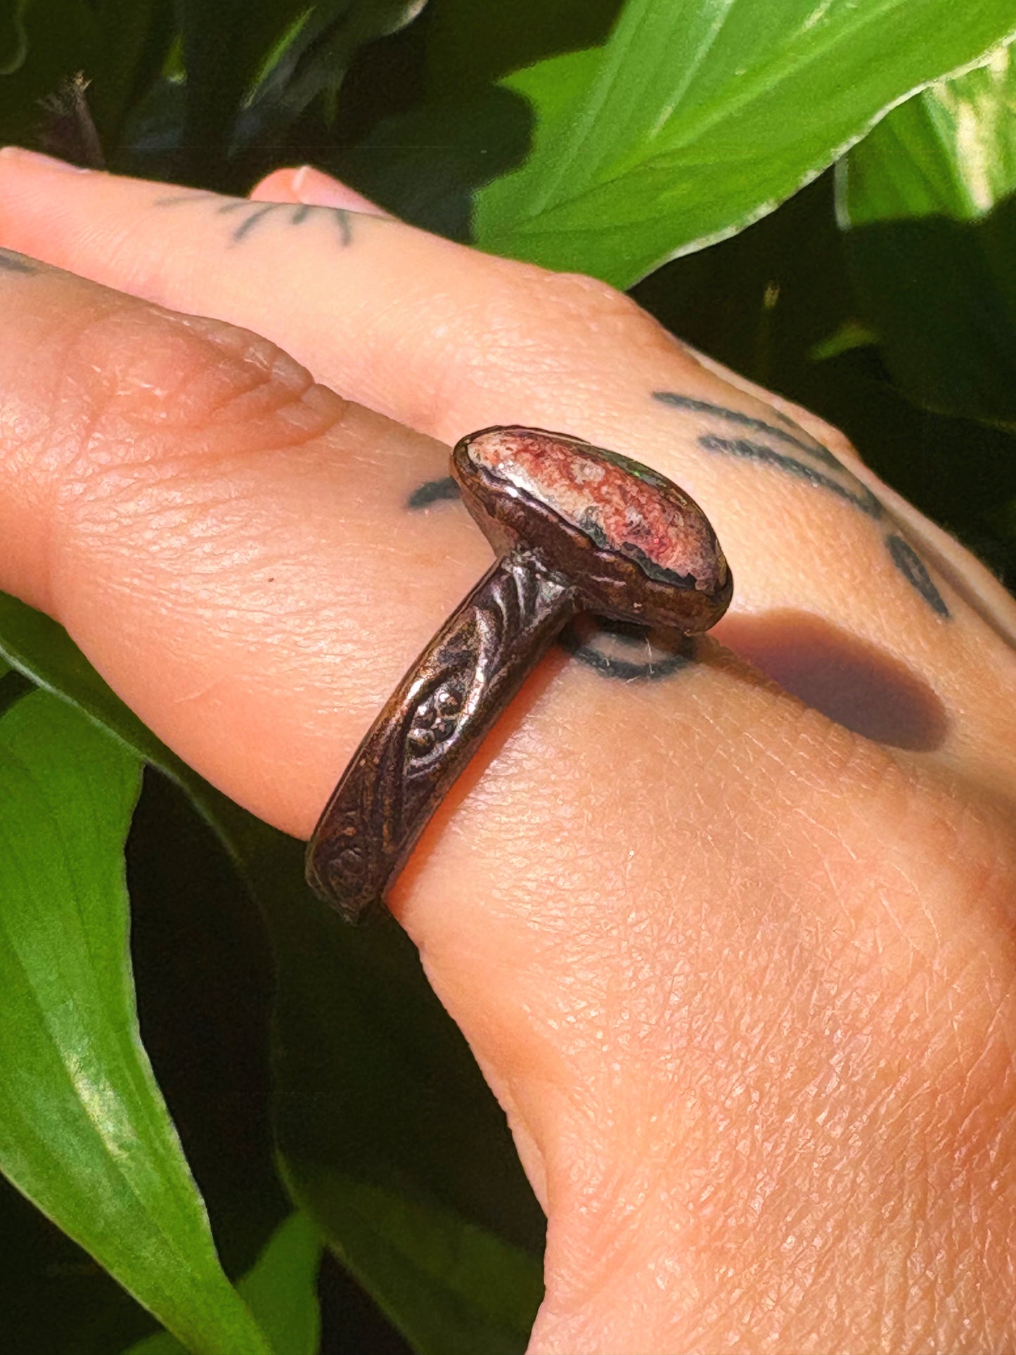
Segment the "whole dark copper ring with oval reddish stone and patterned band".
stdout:
[[351,923],[383,902],[576,612],[694,634],[719,621],[733,592],[699,505],[615,451],[542,428],[484,428],[455,444],[451,473],[497,560],[398,684],[308,844],[308,883]]

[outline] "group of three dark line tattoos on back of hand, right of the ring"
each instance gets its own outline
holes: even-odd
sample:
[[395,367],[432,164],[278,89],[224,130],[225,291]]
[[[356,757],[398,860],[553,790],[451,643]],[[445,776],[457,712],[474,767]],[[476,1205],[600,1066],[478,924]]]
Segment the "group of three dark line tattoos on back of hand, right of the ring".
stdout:
[[[681,396],[677,392],[654,390],[653,400],[657,400],[664,405],[671,405],[675,409],[683,409],[690,413],[711,415],[714,419],[722,420],[723,423],[750,428],[753,432],[759,434],[768,434],[768,436],[774,440],[784,444],[790,443],[801,451],[807,453],[807,455],[820,461],[829,470],[839,472],[839,476],[843,478],[834,478],[825,470],[818,470],[816,466],[809,465],[806,461],[801,461],[798,457],[791,457],[784,451],[778,451],[776,447],[769,447],[767,443],[756,442],[750,438],[725,438],[717,432],[699,434],[696,442],[703,451],[725,453],[730,457],[741,457],[745,461],[755,461],[759,465],[782,470],[788,476],[794,476],[797,480],[803,480],[806,484],[814,485],[816,489],[825,489],[828,493],[836,495],[837,499],[841,499],[852,508],[863,512],[867,518],[871,518],[872,522],[883,522],[889,516],[882,501],[876,499],[868,486],[858,480],[858,477],[820,442],[805,442],[802,438],[797,436],[797,434],[790,434],[786,428],[778,428],[775,424],[767,423],[764,419],[756,419],[755,416],[746,415],[740,409],[727,409],[723,405],[714,405],[707,400],[695,400],[691,396]],[[794,421],[786,415],[776,412],[776,417],[783,423],[790,424],[791,428],[798,428],[798,425],[794,424]],[[803,432],[803,430],[798,430],[798,432]],[[952,614],[950,612],[944,598],[935,587],[924,561],[920,558],[913,546],[893,531],[887,533],[885,543],[893,565],[910,584],[914,592],[924,599],[936,615],[950,619]]]

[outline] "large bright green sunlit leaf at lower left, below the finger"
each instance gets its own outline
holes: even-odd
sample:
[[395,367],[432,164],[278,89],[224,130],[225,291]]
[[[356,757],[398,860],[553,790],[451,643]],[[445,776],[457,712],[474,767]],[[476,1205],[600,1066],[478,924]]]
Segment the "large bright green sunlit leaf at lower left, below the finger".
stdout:
[[0,720],[0,1167],[192,1351],[268,1355],[141,1047],[138,759],[45,692]]

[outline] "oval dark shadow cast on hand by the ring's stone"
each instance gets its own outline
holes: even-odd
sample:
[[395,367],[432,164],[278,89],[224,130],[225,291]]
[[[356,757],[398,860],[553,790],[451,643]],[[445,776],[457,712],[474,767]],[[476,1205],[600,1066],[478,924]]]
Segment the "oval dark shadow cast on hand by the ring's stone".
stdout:
[[898,659],[805,611],[725,617],[721,644],[839,725],[891,748],[932,752],[946,707]]

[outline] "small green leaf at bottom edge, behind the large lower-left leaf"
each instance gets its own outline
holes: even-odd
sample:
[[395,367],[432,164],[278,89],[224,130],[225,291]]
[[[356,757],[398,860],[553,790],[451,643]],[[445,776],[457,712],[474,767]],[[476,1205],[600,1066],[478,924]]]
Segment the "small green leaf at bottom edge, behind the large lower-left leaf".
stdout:
[[[268,1238],[257,1263],[237,1285],[271,1337],[276,1355],[317,1355],[321,1313],[317,1270],[321,1238],[306,1214],[295,1213]],[[168,1332],[156,1332],[125,1355],[186,1355]]]

